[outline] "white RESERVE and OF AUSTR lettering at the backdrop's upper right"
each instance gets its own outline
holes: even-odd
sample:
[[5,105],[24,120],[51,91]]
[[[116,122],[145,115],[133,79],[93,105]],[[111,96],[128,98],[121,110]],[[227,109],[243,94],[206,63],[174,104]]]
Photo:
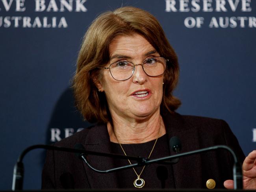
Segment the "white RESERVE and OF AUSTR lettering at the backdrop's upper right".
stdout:
[[[256,3],[256,1],[253,3]],[[251,0],[165,0],[165,11],[170,13],[193,12],[193,15],[195,13],[205,15],[214,12],[216,15],[207,21],[202,15],[186,17],[184,19],[186,28],[202,28],[204,24],[207,24],[208,28],[256,28],[256,17],[217,17],[220,12],[252,12],[251,4]],[[223,16],[223,14],[219,16]]]

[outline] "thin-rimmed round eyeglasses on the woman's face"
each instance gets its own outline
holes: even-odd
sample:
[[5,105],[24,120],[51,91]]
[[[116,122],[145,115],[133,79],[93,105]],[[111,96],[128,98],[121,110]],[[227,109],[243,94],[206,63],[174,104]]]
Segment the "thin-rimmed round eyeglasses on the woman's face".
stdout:
[[[144,72],[150,77],[157,77],[165,72],[166,61],[163,57],[152,57],[146,59],[141,64]],[[117,61],[109,65],[109,67],[98,67],[102,69],[109,69],[111,76],[117,81],[124,81],[130,79],[135,71],[135,64],[130,61]]]

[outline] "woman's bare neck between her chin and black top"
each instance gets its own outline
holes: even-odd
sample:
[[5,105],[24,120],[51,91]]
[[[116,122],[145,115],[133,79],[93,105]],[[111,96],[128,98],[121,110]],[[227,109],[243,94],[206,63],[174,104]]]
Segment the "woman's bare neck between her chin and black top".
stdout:
[[154,140],[165,135],[165,126],[160,113],[145,120],[129,121],[125,118],[113,118],[108,122],[110,141],[121,144],[137,144]]

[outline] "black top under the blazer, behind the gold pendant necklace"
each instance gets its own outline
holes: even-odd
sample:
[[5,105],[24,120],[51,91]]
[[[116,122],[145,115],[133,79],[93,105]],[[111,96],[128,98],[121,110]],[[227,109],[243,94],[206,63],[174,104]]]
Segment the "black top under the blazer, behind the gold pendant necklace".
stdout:
[[[126,155],[148,157],[155,141],[156,140],[152,140],[141,144],[122,144],[122,147]],[[168,143],[169,140],[166,134],[158,138],[150,159],[170,155]],[[113,142],[111,142],[111,152],[124,155],[120,145]],[[131,162],[136,163],[135,161]],[[116,159],[114,164],[115,167],[119,167],[128,165],[130,163],[126,159]],[[135,167],[137,174],[141,173],[142,168],[143,166]],[[173,169],[170,164],[150,164],[145,167],[140,177],[145,181],[145,186],[143,186],[143,188],[174,188]],[[119,188],[135,188],[135,179],[137,179],[137,175],[132,168],[117,172],[117,182]]]

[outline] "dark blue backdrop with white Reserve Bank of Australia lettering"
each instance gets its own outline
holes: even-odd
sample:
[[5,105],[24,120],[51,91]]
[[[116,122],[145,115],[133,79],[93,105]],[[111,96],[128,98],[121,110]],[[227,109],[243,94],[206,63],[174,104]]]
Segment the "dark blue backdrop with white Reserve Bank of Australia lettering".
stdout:
[[[224,119],[246,155],[256,148],[255,0],[2,0],[0,190],[24,148],[89,125],[69,89],[78,50],[93,19],[121,6],[155,15],[176,50],[178,112]],[[41,187],[44,155],[24,158],[24,189]]]

